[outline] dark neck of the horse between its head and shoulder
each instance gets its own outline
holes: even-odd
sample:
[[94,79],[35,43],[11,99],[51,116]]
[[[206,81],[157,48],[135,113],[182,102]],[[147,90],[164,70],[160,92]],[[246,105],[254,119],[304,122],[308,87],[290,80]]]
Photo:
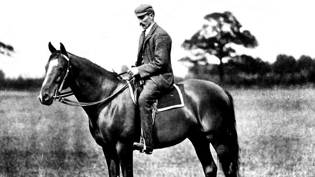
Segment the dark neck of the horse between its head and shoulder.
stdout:
[[95,102],[110,96],[118,86],[113,73],[91,61],[70,55],[72,84],[79,102]]

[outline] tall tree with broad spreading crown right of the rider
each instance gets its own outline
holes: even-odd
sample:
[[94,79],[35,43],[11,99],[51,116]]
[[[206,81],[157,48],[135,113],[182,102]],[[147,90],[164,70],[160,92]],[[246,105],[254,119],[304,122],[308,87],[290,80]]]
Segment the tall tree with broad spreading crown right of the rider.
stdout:
[[244,47],[256,47],[256,38],[248,30],[241,30],[242,25],[231,12],[212,13],[205,15],[207,23],[189,40],[182,44],[187,50],[202,49],[205,53],[216,56],[220,60],[220,79],[223,80],[222,59],[231,57],[235,49],[229,44],[239,44]]

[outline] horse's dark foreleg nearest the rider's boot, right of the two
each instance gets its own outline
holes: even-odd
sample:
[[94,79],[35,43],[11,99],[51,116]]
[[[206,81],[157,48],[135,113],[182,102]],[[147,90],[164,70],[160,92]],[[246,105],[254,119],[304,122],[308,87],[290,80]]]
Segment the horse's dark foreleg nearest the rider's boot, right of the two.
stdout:
[[123,177],[133,177],[133,157],[132,144],[118,142],[116,145]]

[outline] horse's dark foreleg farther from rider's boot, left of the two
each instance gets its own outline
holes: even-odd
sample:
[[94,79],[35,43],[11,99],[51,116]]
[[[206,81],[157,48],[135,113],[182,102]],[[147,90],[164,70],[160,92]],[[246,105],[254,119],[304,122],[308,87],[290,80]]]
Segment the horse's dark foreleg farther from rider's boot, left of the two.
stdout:
[[103,153],[106,158],[109,177],[119,177],[119,158],[116,150],[103,147]]

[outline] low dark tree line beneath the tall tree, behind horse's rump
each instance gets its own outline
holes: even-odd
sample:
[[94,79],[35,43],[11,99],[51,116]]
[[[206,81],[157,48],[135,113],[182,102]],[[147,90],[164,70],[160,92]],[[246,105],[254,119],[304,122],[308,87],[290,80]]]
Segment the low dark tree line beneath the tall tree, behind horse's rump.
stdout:
[[306,55],[295,59],[293,56],[279,54],[273,63],[248,55],[240,55],[228,59],[222,66],[224,68],[223,79],[219,74],[220,65],[197,62],[189,67],[187,77],[233,86],[268,87],[315,83],[315,59]]

